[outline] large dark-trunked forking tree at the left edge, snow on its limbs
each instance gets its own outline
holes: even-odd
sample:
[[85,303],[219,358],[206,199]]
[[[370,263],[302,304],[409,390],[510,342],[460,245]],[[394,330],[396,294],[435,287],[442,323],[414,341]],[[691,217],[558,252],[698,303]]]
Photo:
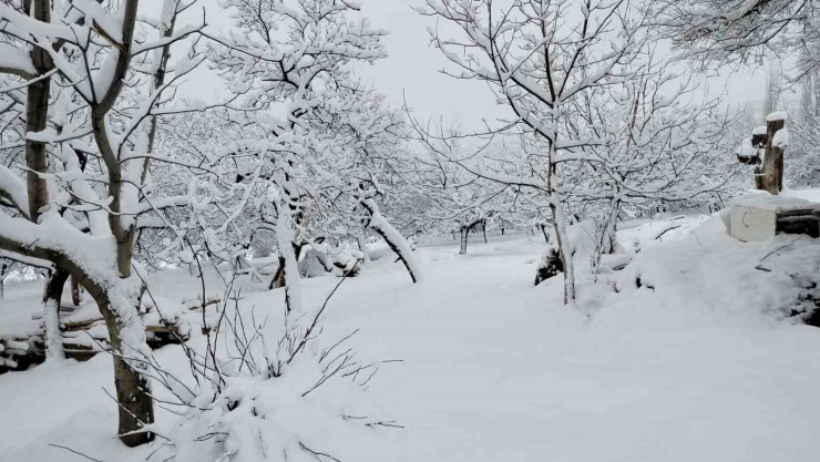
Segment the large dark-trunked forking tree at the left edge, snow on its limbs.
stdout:
[[49,261],[59,275],[47,285],[52,353],[61,350],[57,294],[65,279],[71,276],[96,301],[114,358],[119,433],[127,445],[153,439],[143,362],[151,352],[139,318],[144,275],[133,249],[140,216],[167,204],[153,196],[147,174],[156,117],[174,111],[167,106],[168,89],[202,59],[192,51],[168,64],[170,47],[204,27],[174,28],[188,6],[165,1],[158,18],[146,16],[158,33],[142,34],[136,0],[111,8],[0,4],[0,71],[11,75],[3,95],[25,97],[25,126],[17,131],[24,133],[24,163],[9,158],[0,167],[0,195],[7,202],[0,247]]

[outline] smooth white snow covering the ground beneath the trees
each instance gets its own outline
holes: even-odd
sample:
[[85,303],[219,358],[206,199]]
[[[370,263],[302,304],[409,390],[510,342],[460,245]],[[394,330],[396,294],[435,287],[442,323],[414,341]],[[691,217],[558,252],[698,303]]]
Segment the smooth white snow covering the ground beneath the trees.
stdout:
[[[782,312],[804,290],[800,278],[818,271],[820,243],[742,244],[704,216],[618,237],[640,251],[583,284],[576,308],[561,305],[560,278],[532,286],[541,236],[473,235],[465,256],[455,240],[421,244],[417,286],[389,257],[346,280],[322,336],[360,329],[351,339],[360,357],[403,360],[382,365],[368,394],[404,428],[375,430],[345,452],[379,462],[816,461],[820,330]],[[198,290],[184,271],[155,280],[172,299]],[[305,304],[337,283],[306,280]],[[7,289],[0,326],[37,309],[39,288],[21,284]],[[278,325],[281,298],[248,287],[239,309],[270,311]],[[157,357],[185,368],[180,347]],[[114,438],[103,387],[113,389],[105,356],[0,376],[0,459],[88,460],[55,444],[105,462],[144,460],[155,448]],[[177,419],[157,415],[161,427]]]

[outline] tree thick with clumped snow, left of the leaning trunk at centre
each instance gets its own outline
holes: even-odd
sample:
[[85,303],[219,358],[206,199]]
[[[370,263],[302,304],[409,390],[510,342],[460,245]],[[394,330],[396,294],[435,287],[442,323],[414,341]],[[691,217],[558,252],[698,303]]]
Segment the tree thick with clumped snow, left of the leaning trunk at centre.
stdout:
[[247,114],[254,133],[234,143],[228,156],[246,157],[243,183],[273,187],[276,223],[270,226],[280,255],[274,285],[286,287],[288,306],[298,311],[296,261],[310,212],[310,187],[303,183],[316,179],[308,172],[315,162],[308,158],[325,147],[315,136],[312,119],[328,109],[332,90],[348,79],[350,63],[386,55],[380,42],[385,32],[363,19],[351,20],[356,6],[348,2],[237,0],[224,7],[236,10],[236,27],[213,38],[213,68],[232,91],[244,94],[245,106],[258,111]]

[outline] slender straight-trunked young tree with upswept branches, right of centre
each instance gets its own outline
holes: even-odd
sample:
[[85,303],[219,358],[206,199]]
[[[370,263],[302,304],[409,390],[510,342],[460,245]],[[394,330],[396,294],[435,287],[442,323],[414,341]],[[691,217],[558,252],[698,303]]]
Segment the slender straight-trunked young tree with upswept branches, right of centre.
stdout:
[[[515,121],[546,143],[535,176],[476,173],[545,193],[564,263],[564,301],[575,299],[575,275],[562,206],[561,164],[583,158],[583,146],[602,144],[566,130],[567,111],[583,93],[621,81],[623,65],[639,50],[627,1],[428,0],[422,14],[448,21],[457,37],[430,29],[431,41],[454,64],[459,79],[486,82]],[[566,19],[574,19],[572,24]]]

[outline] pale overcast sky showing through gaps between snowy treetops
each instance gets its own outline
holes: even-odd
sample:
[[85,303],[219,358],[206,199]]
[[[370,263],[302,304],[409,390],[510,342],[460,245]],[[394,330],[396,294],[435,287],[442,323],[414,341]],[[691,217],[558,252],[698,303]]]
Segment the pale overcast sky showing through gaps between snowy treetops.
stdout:
[[[150,0],[151,3],[155,1],[158,3]],[[203,1],[209,29],[228,29],[230,20],[215,4],[216,1]],[[482,119],[509,117],[509,110],[494,104],[493,95],[484,84],[455,80],[440,72],[449,62],[439,50],[429,45],[427,28],[434,25],[434,20],[421,17],[410,8],[421,4],[423,0],[362,0],[362,14],[371,20],[373,27],[390,32],[385,39],[389,58],[367,66],[362,73],[396,104],[401,104],[403,95],[407,95],[412,111],[423,117],[458,119],[464,127],[478,127]],[[202,14],[202,10],[196,14]],[[710,80],[713,93],[726,91],[736,104],[754,104],[762,100],[765,71],[726,74]],[[209,75],[208,71],[197,71],[188,82],[182,92],[188,96],[213,101],[221,92],[219,79]]]

